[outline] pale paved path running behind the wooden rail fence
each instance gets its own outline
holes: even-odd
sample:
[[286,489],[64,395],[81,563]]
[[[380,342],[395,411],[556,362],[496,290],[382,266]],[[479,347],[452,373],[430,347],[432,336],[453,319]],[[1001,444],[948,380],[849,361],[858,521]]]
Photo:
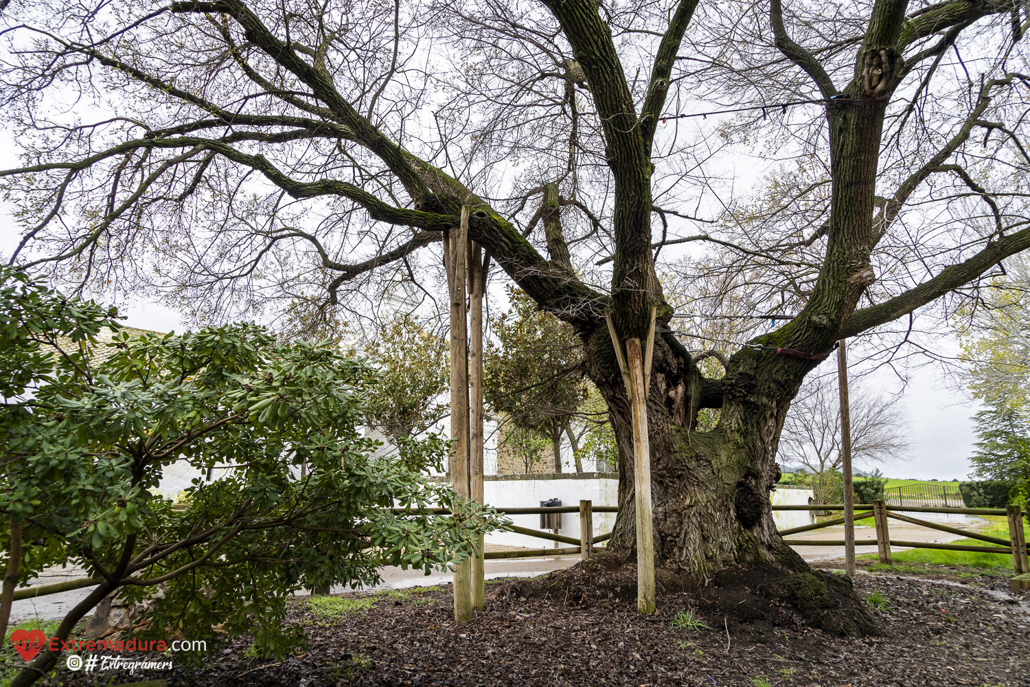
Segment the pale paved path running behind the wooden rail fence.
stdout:
[[[948,524],[952,527],[963,529],[971,528],[975,531],[976,529],[990,524],[990,522],[984,520],[983,518],[969,517],[967,522],[949,522]],[[959,535],[950,535],[948,533],[930,529],[928,527],[920,527],[918,525],[897,520],[891,520],[890,526],[891,539],[894,540],[907,542],[953,542],[957,539],[962,539]],[[876,537],[877,534],[873,527],[861,525],[855,527],[855,539],[857,540],[876,539]],[[814,533],[792,535],[787,538],[787,542],[789,543],[805,539],[844,541],[844,525],[833,525],[817,529]],[[487,549],[491,551],[513,550],[517,548],[518,547],[487,545]],[[792,548],[801,554],[801,557],[808,561],[844,557],[843,546],[795,546]],[[899,551],[901,548],[893,547],[893,550]],[[856,555],[876,552],[876,546],[859,546],[855,548]],[[579,556],[487,560],[485,577],[486,579],[497,577],[535,577],[538,575],[546,575],[547,573],[561,570],[563,568],[571,568],[578,562]],[[47,571],[40,578],[35,580],[34,584],[47,584],[50,582],[60,582],[62,580],[75,579],[84,576],[85,574],[81,570],[54,569]],[[382,569],[382,571],[380,571],[380,576],[382,577],[382,583],[376,587],[372,587],[372,589],[400,589],[402,587],[430,586],[451,581],[451,575],[449,573],[434,573],[426,576],[421,571],[402,571],[400,568],[392,566]],[[341,593],[345,591],[350,591],[350,589],[347,587],[333,588],[333,593]],[[27,598],[21,602],[14,602],[11,607],[11,620],[24,620],[33,617],[41,620],[57,620],[63,618],[65,613],[67,613],[76,603],[84,598],[89,592],[89,588],[75,589],[73,591],[66,591],[60,594],[50,594],[48,596],[40,596],[39,598]]]

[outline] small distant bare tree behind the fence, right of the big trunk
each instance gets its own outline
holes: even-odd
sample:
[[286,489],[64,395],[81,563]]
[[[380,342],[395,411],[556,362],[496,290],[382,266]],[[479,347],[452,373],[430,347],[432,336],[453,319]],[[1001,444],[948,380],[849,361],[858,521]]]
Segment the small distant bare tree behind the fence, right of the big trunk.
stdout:
[[[913,445],[898,399],[877,394],[854,380],[848,393],[855,462],[885,463],[906,457]],[[814,473],[840,469],[844,458],[835,376],[820,375],[801,385],[787,411],[779,455],[782,462],[804,466]]]

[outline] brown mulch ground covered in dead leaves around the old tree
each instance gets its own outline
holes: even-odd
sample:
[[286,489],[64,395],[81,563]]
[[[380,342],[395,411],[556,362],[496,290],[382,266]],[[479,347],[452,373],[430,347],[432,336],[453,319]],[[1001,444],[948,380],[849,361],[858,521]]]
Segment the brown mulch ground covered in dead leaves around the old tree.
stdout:
[[[1030,687],[1030,598],[1011,595],[1004,578],[860,574],[859,596],[879,592],[884,605],[873,612],[883,637],[863,639],[800,618],[770,627],[705,614],[703,590],[661,595],[658,612],[642,616],[631,600],[518,595],[525,584],[488,584],[485,611],[461,624],[449,586],[348,594],[320,616],[298,599],[288,621],[309,642],[286,660],[255,658],[239,638],[200,668],[59,677],[75,686],[167,678],[205,687]],[[684,611],[708,627],[677,626]]]

